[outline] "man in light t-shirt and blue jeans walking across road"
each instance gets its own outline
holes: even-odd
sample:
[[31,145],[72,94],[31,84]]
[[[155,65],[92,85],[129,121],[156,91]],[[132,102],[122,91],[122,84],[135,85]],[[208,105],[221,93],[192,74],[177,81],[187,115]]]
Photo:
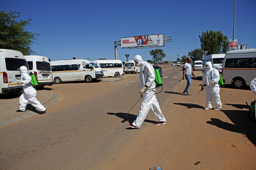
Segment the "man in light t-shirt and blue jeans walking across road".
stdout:
[[191,61],[192,61],[192,59],[191,58],[188,58],[187,59],[187,63],[185,63],[184,64],[184,66],[183,66],[183,76],[182,76],[182,80],[184,80],[185,78],[186,78],[186,80],[187,80],[187,86],[186,86],[186,88],[185,88],[185,90],[184,90],[184,94],[187,96],[187,95],[191,95],[191,94],[189,94],[188,93],[188,88],[189,88],[189,86],[191,85],[191,73],[192,73],[192,75],[196,78],[196,76],[195,76],[195,74],[194,74],[194,72],[192,71],[192,67],[191,67]]

